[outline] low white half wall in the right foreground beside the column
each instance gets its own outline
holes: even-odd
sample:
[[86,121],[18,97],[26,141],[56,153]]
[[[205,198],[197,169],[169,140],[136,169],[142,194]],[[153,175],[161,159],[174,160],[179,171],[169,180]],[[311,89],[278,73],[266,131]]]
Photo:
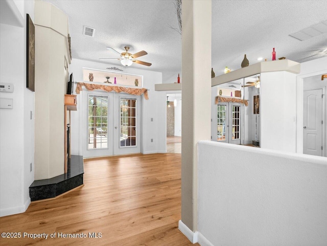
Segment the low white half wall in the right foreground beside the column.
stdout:
[[202,246],[326,245],[326,158],[201,141],[198,171]]

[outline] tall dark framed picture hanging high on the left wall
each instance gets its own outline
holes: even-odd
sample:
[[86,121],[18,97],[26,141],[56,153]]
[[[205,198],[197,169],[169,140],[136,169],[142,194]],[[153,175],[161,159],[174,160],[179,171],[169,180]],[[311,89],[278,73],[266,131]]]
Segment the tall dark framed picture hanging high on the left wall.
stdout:
[[26,40],[26,87],[35,91],[35,27],[29,14],[27,14],[27,40]]

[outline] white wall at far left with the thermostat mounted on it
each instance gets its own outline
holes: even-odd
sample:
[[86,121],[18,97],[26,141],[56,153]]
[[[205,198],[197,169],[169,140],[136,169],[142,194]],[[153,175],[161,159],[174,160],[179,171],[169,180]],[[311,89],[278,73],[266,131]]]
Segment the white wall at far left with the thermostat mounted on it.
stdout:
[[34,93],[26,88],[26,13],[34,20],[34,1],[14,3],[24,27],[0,24],[0,80],[14,85],[13,93],[0,93],[13,99],[13,109],[0,109],[0,216],[28,208],[34,181]]

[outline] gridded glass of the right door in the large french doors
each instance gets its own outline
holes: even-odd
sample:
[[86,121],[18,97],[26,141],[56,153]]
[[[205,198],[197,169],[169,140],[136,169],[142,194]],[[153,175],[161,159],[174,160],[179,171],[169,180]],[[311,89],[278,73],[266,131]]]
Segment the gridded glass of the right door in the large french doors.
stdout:
[[120,147],[136,146],[136,99],[120,98]]

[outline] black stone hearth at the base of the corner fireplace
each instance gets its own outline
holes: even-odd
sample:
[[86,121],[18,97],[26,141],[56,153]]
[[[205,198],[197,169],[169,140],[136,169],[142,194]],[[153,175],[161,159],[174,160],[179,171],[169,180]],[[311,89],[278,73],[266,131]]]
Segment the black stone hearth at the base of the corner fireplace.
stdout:
[[72,155],[67,164],[67,173],[34,181],[30,186],[31,201],[56,197],[83,185],[83,165],[83,156]]

